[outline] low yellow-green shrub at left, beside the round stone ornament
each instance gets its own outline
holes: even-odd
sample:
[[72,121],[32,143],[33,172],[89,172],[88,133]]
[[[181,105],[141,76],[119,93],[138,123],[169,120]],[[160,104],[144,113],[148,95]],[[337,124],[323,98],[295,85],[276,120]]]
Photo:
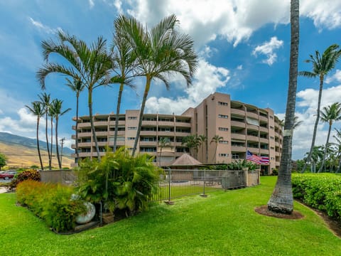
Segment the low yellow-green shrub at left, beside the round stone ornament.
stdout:
[[84,201],[70,200],[72,193],[68,186],[32,180],[23,181],[16,188],[18,203],[28,206],[57,232],[73,230],[77,215],[85,213]]

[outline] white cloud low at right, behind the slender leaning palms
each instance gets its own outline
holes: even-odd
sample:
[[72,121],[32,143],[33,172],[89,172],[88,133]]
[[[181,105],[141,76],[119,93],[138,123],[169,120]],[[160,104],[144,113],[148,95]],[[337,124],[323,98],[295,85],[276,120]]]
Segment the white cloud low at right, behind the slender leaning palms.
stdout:
[[[329,87],[323,90],[321,100],[321,109],[324,106],[339,102],[341,96],[341,85]],[[316,119],[316,111],[318,107],[318,90],[305,89],[297,93],[296,116],[303,123],[293,132],[293,159],[302,159],[304,154],[309,151],[311,139],[313,138],[313,129]],[[280,119],[284,119],[284,114],[276,114]],[[340,127],[341,122],[336,122],[333,127]],[[315,146],[325,144],[328,134],[328,124],[320,122],[317,130],[318,136],[315,140]],[[334,139],[330,135],[330,142]]]

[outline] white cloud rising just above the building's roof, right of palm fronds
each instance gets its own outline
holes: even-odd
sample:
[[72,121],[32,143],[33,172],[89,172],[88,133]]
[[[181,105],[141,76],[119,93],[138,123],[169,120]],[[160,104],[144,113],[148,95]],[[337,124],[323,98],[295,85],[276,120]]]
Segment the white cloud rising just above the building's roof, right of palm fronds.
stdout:
[[215,92],[218,88],[224,87],[228,80],[229,70],[215,67],[200,59],[193,85],[187,88],[184,82],[182,83],[185,96],[175,99],[150,97],[146,101],[146,112],[181,114],[188,107],[196,107],[205,97]]

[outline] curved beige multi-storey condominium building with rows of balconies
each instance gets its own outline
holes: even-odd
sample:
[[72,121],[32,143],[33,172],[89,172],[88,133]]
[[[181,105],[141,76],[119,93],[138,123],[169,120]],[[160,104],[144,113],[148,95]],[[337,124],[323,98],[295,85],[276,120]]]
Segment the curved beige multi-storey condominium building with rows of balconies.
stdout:
[[[107,146],[114,145],[116,114],[94,114],[93,118],[99,151],[104,154]],[[126,110],[119,114],[117,146],[133,147],[138,122],[139,110]],[[190,134],[207,138],[192,152],[203,164],[246,159],[248,150],[252,154],[269,157],[269,165],[261,166],[265,173],[278,169],[283,134],[281,122],[274,116],[274,111],[230,100],[229,95],[219,92],[180,115],[144,114],[137,151],[151,154],[158,164],[168,166],[181,154],[190,151],[183,144],[183,138]],[[220,137],[218,143],[212,142],[216,135]],[[170,147],[160,148],[158,142],[162,137],[169,139]],[[72,138],[75,139],[75,135]],[[78,151],[81,159],[97,156],[89,116],[78,119]]]

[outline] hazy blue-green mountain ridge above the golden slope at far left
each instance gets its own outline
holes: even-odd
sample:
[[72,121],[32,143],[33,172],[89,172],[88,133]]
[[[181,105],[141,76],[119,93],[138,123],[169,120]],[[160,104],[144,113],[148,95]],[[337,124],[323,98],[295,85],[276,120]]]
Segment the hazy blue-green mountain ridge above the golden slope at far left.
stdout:
[[[55,139],[55,138],[53,138]],[[8,145],[19,145],[19,146],[26,146],[31,149],[37,149],[37,140],[36,139],[30,139],[27,137],[22,137],[14,134],[9,134],[7,132],[0,132],[0,142]],[[47,151],[46,142],[39,141],[40,144],[40,150]],[[55,151],[55,145],[53,146],[53,151]],[[63,146],[63,155],[70,156],[75,151]]]

